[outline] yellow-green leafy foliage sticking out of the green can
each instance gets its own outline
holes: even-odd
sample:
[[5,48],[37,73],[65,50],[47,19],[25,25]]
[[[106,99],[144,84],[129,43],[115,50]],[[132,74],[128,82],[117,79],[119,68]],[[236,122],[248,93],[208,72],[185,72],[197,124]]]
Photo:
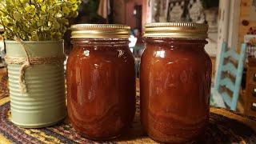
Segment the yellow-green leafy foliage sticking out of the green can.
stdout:
[[4,38],[24,41],[61,40],[69,19],[78,16],[80,0],[0,0]]

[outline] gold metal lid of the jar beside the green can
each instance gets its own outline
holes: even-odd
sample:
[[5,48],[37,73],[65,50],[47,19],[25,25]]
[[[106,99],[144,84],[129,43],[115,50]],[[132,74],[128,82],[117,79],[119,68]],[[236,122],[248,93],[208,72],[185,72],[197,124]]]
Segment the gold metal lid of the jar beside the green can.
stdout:
[[118,24],[77,24],[70,27],[71,38],[129,38],[130,26]]

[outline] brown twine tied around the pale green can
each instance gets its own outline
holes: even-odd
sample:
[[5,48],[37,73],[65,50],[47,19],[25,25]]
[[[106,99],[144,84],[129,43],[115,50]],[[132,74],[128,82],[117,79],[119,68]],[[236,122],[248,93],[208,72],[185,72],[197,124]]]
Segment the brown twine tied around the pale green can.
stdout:
[[5,56],[7,64],[17,64],[22,65],[19,70],[19,86],[21,87],[22,94],[27,92],[27,86],[25,82],[25,73],[26,69],[32,65],[44,65],[44,64],[56,64],[61,66],[65,60],[65,56],[52,56],[52,57],[34,57],[30,58],[30,54],[26,49],[25,43],[22,41],[21,38],[14,38],[16,42],[18,42],[22,49],[25,51],[26,58],[16,58],[16,57],[8,57]]

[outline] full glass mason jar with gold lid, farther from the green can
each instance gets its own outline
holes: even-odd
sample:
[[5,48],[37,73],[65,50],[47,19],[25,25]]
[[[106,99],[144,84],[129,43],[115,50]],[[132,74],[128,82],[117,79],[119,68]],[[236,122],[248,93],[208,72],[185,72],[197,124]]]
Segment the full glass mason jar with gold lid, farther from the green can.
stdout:
[[193,142],[209,121],[208,26],[146,25],[140,90],[142,126],[158,142]]

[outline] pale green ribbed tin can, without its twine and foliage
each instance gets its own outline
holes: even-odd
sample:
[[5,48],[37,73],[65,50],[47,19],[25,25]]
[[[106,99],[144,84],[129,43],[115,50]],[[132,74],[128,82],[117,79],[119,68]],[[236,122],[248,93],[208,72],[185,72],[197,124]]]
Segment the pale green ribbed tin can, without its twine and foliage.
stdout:
[[[6,41],[6,55],[26,58],[20,42]],[[24,42],[30,58],[63,55],[63,41]],[[63,64],[32,65],[26,69],[27,92],[22,93],[19,74],[22,65],[8,64],[11,121],[27,128],[53,125],[66,117]]]

